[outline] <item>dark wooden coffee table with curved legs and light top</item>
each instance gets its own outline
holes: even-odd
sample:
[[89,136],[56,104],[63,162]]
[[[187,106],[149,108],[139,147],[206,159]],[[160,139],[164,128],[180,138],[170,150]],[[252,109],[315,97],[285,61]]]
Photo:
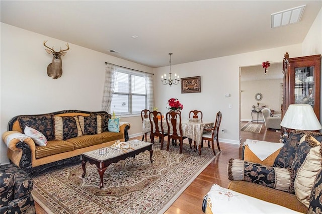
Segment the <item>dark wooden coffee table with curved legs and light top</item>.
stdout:
[[130,148],[123,151],[113,149],[111,147],[106,147],[103,149],[97,149],[94,151],[83,153],[81,155],[83,167],[82,177],[84,178],[86,174],[86,162],[89,162],[90,164],[95,164],[100,174],[100,188],[102,188],[104,172],[111,163],[117,163],[120,160],[125,160],[129,157],[134,158],[135,155],[138,155],[141,152],[145,152],[146,150],[150,151],[150,162],[152,163],[152,144],[139,140],[131,140],[127,141],[126,143],[130,145]]

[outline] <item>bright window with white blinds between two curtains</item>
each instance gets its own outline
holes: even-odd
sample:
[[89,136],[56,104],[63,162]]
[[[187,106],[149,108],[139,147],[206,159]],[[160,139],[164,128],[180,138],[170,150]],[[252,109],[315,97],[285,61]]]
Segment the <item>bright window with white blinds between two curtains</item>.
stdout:
[[120,68],[111,102],[111,111],[116,115],[141,114],[146,109],[145,77],[143,74]]

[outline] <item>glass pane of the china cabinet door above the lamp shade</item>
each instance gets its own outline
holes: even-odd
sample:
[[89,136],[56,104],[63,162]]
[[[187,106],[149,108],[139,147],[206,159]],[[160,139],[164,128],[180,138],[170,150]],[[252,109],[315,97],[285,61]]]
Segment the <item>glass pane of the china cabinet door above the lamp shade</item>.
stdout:
[[314,109],[314,66],[295,67],[294,103],[310,104]]

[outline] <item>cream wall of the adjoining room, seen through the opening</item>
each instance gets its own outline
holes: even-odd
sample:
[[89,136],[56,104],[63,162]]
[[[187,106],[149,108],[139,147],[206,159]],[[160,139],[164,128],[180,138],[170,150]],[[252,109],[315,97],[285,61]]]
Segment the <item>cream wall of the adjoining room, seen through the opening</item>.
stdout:
[[[282,70],[282,69],[281,69]],[[282,71],[281,71],[282,73]],[[241,121],[251,121],[252,105],[259,106],[266,105],[267,108],[271,108],[275,111],[275,114],[281,114],[282,104],[282,86],[283,79],[268,79],[268,80],[256,80],[256,81],[243,81],[240,82],[240,118]],[[257,101],[255,99],[256,93],[262,93],[263,99]],[[253,114],[253,119],[256,115]],[[263,120],[261,114],[259,114],[259,120]]]

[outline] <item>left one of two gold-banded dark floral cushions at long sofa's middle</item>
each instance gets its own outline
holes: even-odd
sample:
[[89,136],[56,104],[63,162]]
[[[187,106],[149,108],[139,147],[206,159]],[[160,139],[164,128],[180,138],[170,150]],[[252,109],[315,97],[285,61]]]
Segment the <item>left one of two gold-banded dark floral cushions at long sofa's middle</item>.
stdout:
[[55,140],[67,140],[83,135],[78,117],[54,116]]

